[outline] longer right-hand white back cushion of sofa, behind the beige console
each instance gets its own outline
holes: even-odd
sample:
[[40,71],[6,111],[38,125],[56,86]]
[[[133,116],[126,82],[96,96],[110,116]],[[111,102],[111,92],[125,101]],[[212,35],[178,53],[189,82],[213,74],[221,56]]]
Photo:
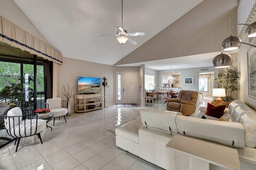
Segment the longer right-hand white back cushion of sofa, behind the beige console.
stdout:
[[195,117],[176,117],[180,134],[218,142],[228,146],[244,148],[245,129],[241,123],[199,119]]

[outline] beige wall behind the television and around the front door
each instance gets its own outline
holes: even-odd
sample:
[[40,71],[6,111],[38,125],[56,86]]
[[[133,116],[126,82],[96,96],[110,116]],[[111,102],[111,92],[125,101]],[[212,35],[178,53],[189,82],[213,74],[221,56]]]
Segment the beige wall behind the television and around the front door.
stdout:
[[[78,94],[78,76],[100,77],[101,79],[106,77],[109,84],[105,87],[105,105],[116,103],[116,72],[137,72],[138,75],[143,72],[142,68],[139,69],[139,67],[114,67],[67,57],[63,57],[63,63],[61,68],[61,84],[70,83],[70,87],[73,87],[73,95]],[[104,93],[104,87],[101,87],[101,92]],[[138,91],[138,94],[141,95],[141,88],[138,88]],[[62,99],[65,99],[63,95]],[[138,97],[138,102],[142,102],[140,97]],[[70,105],[72,111],[74,111],[73,97],[70,100]]]

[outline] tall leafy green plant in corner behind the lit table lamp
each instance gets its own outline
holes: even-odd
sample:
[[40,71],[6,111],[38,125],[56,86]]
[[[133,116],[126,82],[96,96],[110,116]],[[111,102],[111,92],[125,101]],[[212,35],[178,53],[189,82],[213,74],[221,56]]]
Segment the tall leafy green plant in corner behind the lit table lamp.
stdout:
[[230,103],[235,100],[239,91],[238,80],[240,73],[236,69],[227,68],[226,71],[218,74],[218,78],[215,79],[216,88],[224,88],[226,91],[226,97],[221,97],[223,101]]

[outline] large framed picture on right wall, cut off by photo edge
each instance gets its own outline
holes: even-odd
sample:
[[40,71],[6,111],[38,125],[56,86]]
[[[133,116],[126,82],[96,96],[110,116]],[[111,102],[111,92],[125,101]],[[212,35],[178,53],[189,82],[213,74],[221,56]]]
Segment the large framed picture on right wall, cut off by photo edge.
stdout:
[[248,69],[248,96],[256,98],[256,50],[249,49],[247,52]]

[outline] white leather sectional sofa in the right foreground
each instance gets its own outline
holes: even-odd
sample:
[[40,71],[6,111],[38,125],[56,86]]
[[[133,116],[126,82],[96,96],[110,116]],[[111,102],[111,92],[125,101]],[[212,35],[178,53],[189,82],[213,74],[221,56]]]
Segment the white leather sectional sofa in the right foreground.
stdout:
[[[200,119],[183,116],[180,112],[141,109],[139,119],[116,128],[116,146],[161,168],[179,170],[189,166],[184,161],[188,158],[184,154],[174,154],[173,150],[166,148],[166,144],[175,135],[190,136],[235,148],[241,169],[255,170],[256,112],[236,100],[225,109],[223,116],[227,121],[210,120],[209,116]],[[215,165],[211,165],[211,169],[223,170]]]

